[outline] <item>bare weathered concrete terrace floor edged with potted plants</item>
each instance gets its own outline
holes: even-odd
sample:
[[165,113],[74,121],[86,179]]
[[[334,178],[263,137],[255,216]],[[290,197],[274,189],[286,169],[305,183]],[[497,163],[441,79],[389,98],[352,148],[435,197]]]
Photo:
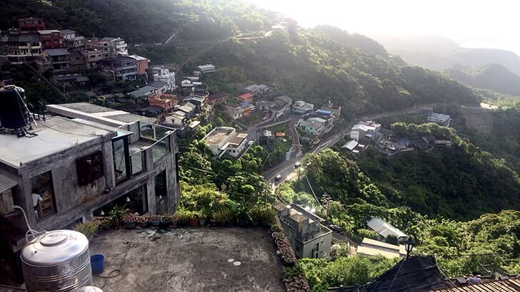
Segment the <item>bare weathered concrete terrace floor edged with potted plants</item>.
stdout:
[[103,276],[121,271],[109,279],[94,276],[94,286],[104,292],[285,291],[281,262],[266,229],[100,232],[90,243],[91,255],[104,255]]

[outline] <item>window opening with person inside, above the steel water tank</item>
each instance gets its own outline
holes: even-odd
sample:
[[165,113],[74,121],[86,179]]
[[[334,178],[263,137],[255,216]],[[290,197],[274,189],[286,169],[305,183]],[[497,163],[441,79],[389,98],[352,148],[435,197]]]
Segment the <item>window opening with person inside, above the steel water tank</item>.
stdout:
[[31,177],[32,199],[36,221],[40,221],[56,213],[56,199],[51,172]]

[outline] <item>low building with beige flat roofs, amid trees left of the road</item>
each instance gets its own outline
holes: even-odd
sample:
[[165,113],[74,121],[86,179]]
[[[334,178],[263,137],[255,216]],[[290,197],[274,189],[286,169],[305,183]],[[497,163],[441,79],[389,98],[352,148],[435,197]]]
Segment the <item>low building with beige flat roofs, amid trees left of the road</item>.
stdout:
[[239,157],[247,145],[247,134],[236,132],[234,127],[215,127],[201,141],[208,145],[215,156],[228,154]]

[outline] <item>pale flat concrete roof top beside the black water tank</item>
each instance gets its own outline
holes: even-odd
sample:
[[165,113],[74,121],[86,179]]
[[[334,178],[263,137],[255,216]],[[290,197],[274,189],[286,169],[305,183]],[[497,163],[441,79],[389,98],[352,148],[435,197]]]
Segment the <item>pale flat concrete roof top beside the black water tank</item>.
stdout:
[[52,117],[45,122],[38,121],[29,132],[38,135],[36,137],[0,135],[0,160],[11,166],[20,167],[20,163],[25,164],[81,143],[99,139],[98,135],[106,135],[111,131],[75,120]]

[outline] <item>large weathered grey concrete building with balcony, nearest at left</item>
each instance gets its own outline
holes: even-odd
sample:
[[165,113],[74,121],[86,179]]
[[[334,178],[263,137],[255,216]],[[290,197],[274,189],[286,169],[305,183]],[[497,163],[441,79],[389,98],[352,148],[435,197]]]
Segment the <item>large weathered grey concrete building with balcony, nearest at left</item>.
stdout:
[[[172,214],[179,199],[174,131],[153,119],[71,103],[33,125],[35,137],[0,135],[0,201],[11,197],[36,230],[63,229],[126,205]],[[69,119],[72,118],[72,119]],[[2,266],[16,271],[27,230],[18,209],[0,214]],[[13,273],[14,273],[13,272]]]

